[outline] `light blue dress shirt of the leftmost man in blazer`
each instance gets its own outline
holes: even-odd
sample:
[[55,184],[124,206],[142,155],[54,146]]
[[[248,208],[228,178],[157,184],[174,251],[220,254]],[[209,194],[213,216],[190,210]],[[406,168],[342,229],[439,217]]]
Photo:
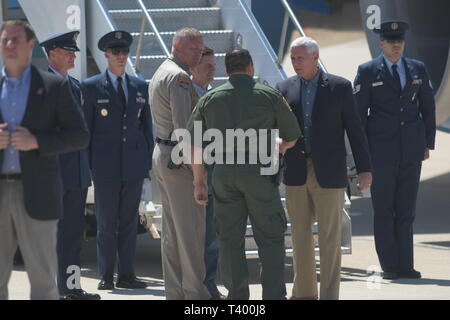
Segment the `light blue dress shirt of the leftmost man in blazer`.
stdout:
[[[1,87],[0,111],[3,122],[8,123],[8,131],[22,123],[27,108],[28,94],[31,85],[31,67],[22,73],[20,78],[8,77],[3,68],[3,84]],[[19,151],[9,145],[3,152],[2,174],[21,173]]]

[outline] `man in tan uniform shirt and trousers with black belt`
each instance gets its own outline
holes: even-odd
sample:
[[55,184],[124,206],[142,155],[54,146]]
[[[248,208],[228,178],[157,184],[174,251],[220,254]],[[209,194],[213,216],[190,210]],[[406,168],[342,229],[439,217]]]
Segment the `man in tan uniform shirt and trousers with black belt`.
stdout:
[[175,129],[186,128],[197,103],[189,68],[201,59],[203,38],[193,28],[178,30],[172,57],[153,75],[150,106],[156,125],[153,169],[161,193],[162,265],[166,299],[209,299],[205,279],[205,208],[194,200],[190,166],[171,166],[171,141]]

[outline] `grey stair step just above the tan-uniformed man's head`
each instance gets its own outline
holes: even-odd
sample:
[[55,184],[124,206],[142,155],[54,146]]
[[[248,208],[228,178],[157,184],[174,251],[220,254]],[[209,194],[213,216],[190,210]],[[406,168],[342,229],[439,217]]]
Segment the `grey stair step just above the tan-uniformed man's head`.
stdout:
[[[184,27],[197,30],[222,29],[220,8],[149,9],[159,32],[177,31]],[[141,9],[109,10],[117,28],[128,32],[140,32],[143,12]],[[146,31],[151,31],[147,26]]]

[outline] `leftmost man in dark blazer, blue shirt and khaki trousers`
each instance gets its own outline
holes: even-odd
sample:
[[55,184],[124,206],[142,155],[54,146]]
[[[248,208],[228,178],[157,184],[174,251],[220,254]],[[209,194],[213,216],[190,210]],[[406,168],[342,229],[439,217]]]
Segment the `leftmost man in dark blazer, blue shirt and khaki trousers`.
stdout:
[[31,66],[31,27],[8,21],[0,34],[0,299],[8,298],[18,244],[31,299],[57,299],[58,155],[86,147],[89,133],[69,83]]

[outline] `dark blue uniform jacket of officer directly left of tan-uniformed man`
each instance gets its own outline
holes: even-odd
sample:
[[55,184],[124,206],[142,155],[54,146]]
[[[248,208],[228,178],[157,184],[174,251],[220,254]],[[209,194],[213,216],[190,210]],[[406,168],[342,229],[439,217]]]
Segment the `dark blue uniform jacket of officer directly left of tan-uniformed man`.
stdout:
[[91,132],[89,162],[94,181],[149,177],[153,133],[148,85],[126,75],[128,102],[122,106],[108,73],[83,81],[86,121]]

